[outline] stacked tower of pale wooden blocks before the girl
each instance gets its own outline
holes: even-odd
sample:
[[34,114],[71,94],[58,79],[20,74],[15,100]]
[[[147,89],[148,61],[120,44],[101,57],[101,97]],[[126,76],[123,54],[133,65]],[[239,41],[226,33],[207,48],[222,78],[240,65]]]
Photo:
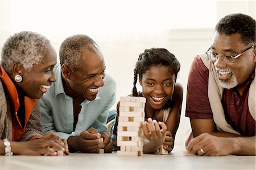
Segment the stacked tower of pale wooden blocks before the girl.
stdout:
[[143,153],[144,97],[121,97],[117,126],[117,155],[141,156]]

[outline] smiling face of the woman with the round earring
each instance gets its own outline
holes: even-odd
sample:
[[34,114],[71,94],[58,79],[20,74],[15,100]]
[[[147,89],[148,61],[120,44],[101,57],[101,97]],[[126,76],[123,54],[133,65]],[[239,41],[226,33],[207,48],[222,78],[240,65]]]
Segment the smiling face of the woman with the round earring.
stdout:
[[[17,83],[24,96],[42,98],[52,82],[55,82],[53,68],[56,64],[56,52],[50,45],[47,48],[43,63],[34,64],[31,71],[27,72],[20,66],[14,65],[15,71],[22,76],[22,81]],[[14,73],[14,76],[16,73]]]

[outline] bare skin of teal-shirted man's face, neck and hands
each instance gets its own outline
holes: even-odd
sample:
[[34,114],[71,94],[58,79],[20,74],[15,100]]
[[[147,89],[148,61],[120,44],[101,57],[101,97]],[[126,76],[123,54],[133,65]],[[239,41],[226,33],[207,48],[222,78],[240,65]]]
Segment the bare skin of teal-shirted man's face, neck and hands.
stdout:
[[[81,103],[85,99],[92,101],[96,98],[98,88],[104,85],[105,63],[100,49],[95,47],[95,51],[84,49],[81,55],[82,68],[72,72],[67,65],[62,65],[62,78],[65,93],[73,99],[74,123],[75,129],[78,121],[78,115],[81,110]],[[67,140],[71,152],[82,151],[86,153],[96,153],[98,140],[104,139],[102,148],[104,152],[111,153],[113,150],[113,141],[107,132],[98,132],[90,127],[82,131],[79,136],[70,136]]]

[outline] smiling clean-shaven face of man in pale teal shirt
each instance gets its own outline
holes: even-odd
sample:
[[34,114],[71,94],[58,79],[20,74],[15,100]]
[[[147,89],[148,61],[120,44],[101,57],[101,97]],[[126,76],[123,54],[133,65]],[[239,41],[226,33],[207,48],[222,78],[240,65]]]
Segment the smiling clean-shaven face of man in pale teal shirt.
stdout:
[[98,88],[104,85],[106,66],[100,49],[97,48],[95,51],[84,49],[81,56],[81,65],[82,67],[76,69],[75,72],[67,72],[67,66],[63,65],[63,74],[68,82],[66,89],[71,88],[66,92],[68,95],[75,92],[71,96],[81,96],[91,101],[96,98]]

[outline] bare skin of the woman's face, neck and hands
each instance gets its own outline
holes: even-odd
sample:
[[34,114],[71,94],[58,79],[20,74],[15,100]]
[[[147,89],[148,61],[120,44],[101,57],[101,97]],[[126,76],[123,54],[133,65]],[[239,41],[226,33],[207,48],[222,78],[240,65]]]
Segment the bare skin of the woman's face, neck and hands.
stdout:
[[[19,74],[23,78],[18,83],[13,80],[19,94],[20,106],[18,113],[22,126],[24,126],[24,97],[39,99],[45,93],[42,90],[42,85],[51,85],[52,82],[56,81],[53,73],[53,67],[56,64],[56,53],[53,47],[48,47],[44,59],[43,63],[34,64],[29,72],[21,64],[13,64],[10,77],[14,79],[15,75]],[[2,143],[3,140],[0,140],[0,155],[5,154],[5,146]],[[10,141],[10,143],[14,155],[57,155],[57,151],[64,151],[66,155],[69,154],[67,141],[60,139],[53,132],[48,132],[40,139],[27,142]]]

